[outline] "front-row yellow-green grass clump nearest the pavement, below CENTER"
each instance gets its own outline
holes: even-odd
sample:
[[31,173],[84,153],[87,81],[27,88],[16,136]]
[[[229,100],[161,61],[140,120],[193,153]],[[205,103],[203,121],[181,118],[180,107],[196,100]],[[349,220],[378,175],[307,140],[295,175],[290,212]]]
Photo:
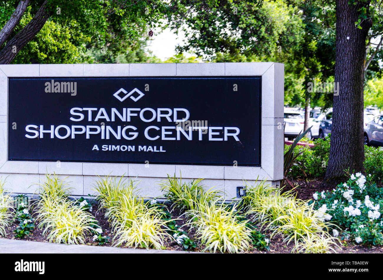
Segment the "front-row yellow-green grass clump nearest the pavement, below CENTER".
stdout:
[[249,249],[252,242],[249,220],[239,221],[235,208],[236,205],[228,210],[223,203],[211,203],[187,212],[188,224],[206,246],[203,251],[238,253]]

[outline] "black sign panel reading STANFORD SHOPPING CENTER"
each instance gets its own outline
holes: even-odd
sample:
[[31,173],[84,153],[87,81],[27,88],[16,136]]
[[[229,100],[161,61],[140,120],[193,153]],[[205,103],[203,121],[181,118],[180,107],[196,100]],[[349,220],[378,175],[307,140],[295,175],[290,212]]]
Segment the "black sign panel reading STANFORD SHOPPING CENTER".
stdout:
[[260,166],[261,77],[9,78],[9,160]]

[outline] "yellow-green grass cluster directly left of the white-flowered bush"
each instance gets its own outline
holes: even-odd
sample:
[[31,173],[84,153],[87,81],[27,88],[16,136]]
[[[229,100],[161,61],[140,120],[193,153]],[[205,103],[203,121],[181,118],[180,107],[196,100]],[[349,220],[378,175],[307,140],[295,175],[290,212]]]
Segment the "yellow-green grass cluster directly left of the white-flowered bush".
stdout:
[[[317,241],[315,244],[319,246],[321,243],[325,249],[326,246],[333,245],[334,240],[329,238],[328,234],[329,226],[332,224],[325,221],[330,217],[326,211],[323,208],[315,210],[313,206],[293,197],[290,192],[282,193],[281,189],[265,186],[264,182],[260,184],[255,182],[253,186],[246,184],[246,196],[242,197],[242,207],[246,211],[245,215],[260,229],[270,231],[270,238],[281,234],[284,242],[294,241],[295,246],[298,246],[295,247],[295,251],[313,251],[315,246],[313,248],[310,246],[313,245],[312,242]],[[258,238],[258,241],[255,240],[260,242],[258,246],[264,246],[266,240],[263,236],[258,232],[254,234]],[[326,238],[322,240],[320,236]]]

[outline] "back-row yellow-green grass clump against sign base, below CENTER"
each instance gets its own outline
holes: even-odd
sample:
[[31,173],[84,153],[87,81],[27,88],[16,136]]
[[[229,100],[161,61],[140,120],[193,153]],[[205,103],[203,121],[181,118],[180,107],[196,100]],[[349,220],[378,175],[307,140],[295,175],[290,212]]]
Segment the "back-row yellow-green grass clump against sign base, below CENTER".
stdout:
[[170,177],[161,183],[161,190],[173,205],[186,210],[195,210],[198,205],[206,205],[214,200],[221,198],[223,192],[219,190],[205,190],[200,184],[202,179],[182,183],[182,178]]

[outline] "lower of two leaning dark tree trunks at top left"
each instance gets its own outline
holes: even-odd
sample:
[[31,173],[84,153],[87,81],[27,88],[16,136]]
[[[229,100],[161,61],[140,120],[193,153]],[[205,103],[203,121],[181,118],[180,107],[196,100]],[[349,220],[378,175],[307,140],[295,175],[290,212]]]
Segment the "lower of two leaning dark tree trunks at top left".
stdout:
[[47,0],[45,0],[33,19],[1,50],[0,64],[9,64],[16,54],[43,28],[49,16],[51,16],[51,12],[47,10]]

